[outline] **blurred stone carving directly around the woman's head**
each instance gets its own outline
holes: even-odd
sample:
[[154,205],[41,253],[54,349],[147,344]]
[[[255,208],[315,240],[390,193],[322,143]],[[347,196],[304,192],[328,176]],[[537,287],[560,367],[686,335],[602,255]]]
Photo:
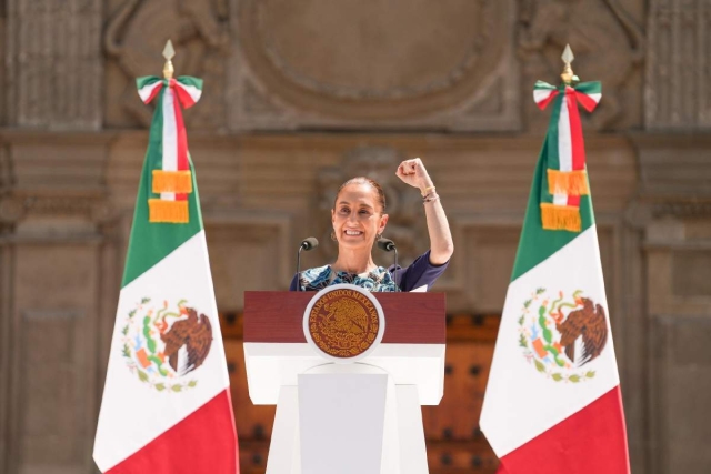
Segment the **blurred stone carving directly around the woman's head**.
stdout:
[[[428,249],[429,238],[422,211],[422,199],[417,190],[403,184],[395,170],[407,157],[388,147],[359,147],[346,153],[341,165],[327,168],[319,172],[319,221],[320,239],[330,242],[331,225],[327,215],[333,209],[339,186],[356,177],[375,180],[385,192],[387,209],[390,215],[384,235],[398,245],[399,263],[408,264]],[[327,256],[336,255],[336,245],[323,245]],[[378,256],[378,255],[375,255]]]

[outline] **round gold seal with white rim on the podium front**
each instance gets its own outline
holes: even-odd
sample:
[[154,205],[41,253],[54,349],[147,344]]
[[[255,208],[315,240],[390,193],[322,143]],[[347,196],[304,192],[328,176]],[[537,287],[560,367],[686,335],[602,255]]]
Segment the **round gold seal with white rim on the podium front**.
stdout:
[[382,307],[360,286],[338,284],[318,292],[304,312],[307,341],[336,362],[362,359],[384,333]]

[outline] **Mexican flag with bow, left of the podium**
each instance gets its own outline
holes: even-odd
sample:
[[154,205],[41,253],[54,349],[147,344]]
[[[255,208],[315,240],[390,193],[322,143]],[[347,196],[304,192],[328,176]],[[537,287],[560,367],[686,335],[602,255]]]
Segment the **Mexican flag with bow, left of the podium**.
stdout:
[[237,434],[181,108],[202,81],[138,79],[158,100],[139,184],[93,458],[103,473],[229,473]]

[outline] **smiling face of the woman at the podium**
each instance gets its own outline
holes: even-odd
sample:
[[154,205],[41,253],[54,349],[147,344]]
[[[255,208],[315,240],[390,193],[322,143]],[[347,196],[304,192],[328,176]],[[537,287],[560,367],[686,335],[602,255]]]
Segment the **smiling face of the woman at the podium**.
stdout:
[[385,229],[388,214],[382,213],[377,191],[370,184],[349,184],[336,198],[331,223],[339,246],[370,252],[375,235]]

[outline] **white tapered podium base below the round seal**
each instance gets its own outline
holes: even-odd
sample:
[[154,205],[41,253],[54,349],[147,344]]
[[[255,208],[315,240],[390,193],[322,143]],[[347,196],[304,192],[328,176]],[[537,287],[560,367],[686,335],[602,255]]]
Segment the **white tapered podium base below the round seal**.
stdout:
[[267,474],[427,474],[417,385],[382,369],[324,364],[282,386]]

